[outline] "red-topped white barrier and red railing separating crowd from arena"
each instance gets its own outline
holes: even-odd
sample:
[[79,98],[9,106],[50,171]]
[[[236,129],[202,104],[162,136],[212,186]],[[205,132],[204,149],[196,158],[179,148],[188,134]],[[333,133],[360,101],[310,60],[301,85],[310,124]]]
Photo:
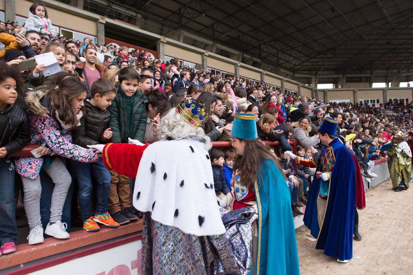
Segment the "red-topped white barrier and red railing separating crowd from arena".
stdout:
[[[280,145],[278,141],[264,143],[268,146]],[[212,144],[214,148],[230,147],[228,141],[216,141]],[[290,145],[296,153],[296,142],[290,141]],[[16,156],[30,156],[30,151],[37,147],[39,146],[25,146]],[[389,179],[387,158],[374,162],[374,172],[378,176],[371,183],[363,177],[366,190]],[[305,205],[300,210],[304,213]],[[303,217],[294,218],[295,228],[304,225]],[[17,245],[15,253],[0,256],[0,273],[54,275],[62,270],[70,270],[70,273],[96,275],[141,274],[142,220],[119,228],[101,228],[92,233],[78,230],[70,233],[70,236],[68,240],[46,238],[43,244],[35,246],[27,243]],[[90,264],[97,262],[99,265]]]

